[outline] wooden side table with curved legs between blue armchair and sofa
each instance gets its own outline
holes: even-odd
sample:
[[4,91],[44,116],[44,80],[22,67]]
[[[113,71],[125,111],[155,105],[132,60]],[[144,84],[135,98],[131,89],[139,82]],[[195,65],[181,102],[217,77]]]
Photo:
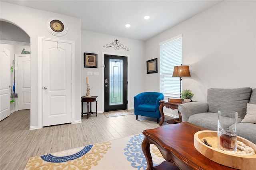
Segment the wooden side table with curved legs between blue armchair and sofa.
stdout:
[[[162,116],[162,120],[159,123],[159,125],[161,126],[164,123],[164,111],[163,111],[164,106],[166,108],[170,108],[170,109],[178,109],[178,106],[182,103],[184,103],[184,101],[182,101],[182,102],[168,102],[168,100],[161,100],[160,101],[160,106],[159,106],[159,111],[160,111],[160,114]],[[178,113],[179,113],[179,118],[178,119],[171,119],[171,120],[168,120],[168,121],[165,121],[165,122],[167,122],[169,124],[182,122],[181,113],[179,111],[178,111]]]

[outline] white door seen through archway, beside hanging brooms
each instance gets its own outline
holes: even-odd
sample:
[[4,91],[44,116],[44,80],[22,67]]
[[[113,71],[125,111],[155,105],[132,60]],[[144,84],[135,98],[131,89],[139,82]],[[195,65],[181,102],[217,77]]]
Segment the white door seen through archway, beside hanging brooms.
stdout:
[[18,76],[18,110],[30,109],[30,55],[15,55]]

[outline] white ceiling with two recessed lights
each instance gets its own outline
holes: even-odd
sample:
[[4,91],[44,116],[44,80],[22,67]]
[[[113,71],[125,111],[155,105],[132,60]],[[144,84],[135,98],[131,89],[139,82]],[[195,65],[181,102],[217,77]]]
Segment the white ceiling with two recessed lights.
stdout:
[[0,1],[80,18],[81,30],[145,41],[223,0]]

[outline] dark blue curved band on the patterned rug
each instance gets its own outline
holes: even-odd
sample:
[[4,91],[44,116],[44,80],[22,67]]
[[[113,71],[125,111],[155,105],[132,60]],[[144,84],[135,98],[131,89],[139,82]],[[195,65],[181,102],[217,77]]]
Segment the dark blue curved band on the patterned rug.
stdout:
[[69,155],[69,156],[54,156],[52,154],[46,154],[46,155],[42,155],[41,158],[42,158],[42,160],[44,160],[46,162],[67,162],[69,160],[74,160],[76,158],[83,156],[84,154],[86,154],[87,152],[89,152],[91,150],[92,146],[93,146],[93,144],[85,146],[79,152]]

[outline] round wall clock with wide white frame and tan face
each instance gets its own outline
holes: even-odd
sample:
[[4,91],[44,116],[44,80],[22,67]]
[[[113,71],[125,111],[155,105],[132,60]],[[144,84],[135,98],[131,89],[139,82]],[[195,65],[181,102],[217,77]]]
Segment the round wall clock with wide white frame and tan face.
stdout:
[[68,32],[67,24],[58,18],[51,18],[48,20],[46,27],[54,36],[64,36]]

